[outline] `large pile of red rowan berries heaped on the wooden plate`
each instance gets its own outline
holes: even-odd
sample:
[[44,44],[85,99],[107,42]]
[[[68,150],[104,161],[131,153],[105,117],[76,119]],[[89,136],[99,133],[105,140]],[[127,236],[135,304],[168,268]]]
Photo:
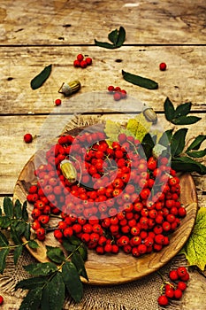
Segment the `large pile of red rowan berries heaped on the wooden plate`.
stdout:
[[[60,136],[27,195],[37,238],[45,238],[50,217],[58,215],[54,236],[60,243],[74,235],[98,254],[121,249],[138,257],[170,244],[186,216],[179,178],[166,157],[141,154],[140,141],[126,134],[111,145],[103,132]],[[75,168],[76,182],[63,174],[64,159]]]

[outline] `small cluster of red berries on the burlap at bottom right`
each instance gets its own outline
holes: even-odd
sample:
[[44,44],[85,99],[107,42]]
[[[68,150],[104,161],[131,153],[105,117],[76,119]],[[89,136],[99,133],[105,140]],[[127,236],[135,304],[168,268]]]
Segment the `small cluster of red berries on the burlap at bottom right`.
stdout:
[[182,298],[183,291],[187,289],[189,274],[186,267],[172,269],[169,273],[169,277],[172,283],[165,283],[164,294],[159,296],[157,300],[160,306],[167,306],[172,299],[178,300]]

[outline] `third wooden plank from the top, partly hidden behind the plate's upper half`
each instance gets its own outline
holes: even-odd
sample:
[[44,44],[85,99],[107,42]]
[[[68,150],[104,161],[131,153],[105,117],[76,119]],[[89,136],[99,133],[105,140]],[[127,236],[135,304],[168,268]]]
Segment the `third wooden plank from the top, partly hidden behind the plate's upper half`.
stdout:
[[[201,116],[202,120],[197,122],[195,126],[188,129],[187,138],[191,138],[206,131],[206,114],[195,115]],[[107,115],[104,119],[117,120],[117,115]],[[163,128],[172,128],[172,126],[164,119],[164,115],[158,115]],[[12,194],[15,182],[18,179],[20,171],[26,165],[27,160],[31,158],[41,143],[41,137],[34,139],[33,143],[24,143],[23,136],[30,132],[33,136],[38,136],[43,124],[48,120],[47,116],[4,116],[1,117],[2,135],[0,136],[1,145],[1,161],[0,161],[0,177],[4,182],[0,183],[0,193]],[[118,120],[125,121],[126,114],[118,115]],[[55,128],[57,119],[50,119],[50,130]],[[54,131],[57,135],[61,133]],[[203,146],[202,146],[203,147]],[[198,190],[206,190],[206,180],[204,177],[196,176],[195,184]]]

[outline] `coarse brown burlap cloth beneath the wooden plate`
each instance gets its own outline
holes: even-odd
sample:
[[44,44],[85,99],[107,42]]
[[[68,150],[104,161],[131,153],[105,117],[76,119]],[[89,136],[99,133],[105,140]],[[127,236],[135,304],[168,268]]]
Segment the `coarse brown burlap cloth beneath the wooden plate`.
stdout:
[[[22,298],[27,291],[14,291],[15,284],[29,275],[23,266],[35,262],[30,253],[25,250],[19,258],[17,266],[14,266],[11,254],[7,258],[4,275],[0,277],[1,294],[11,296],[11,302],[5,300],[4,310],[19,309]],[[172,267],[186,264],[182,256],[176,256],[159,271],[164,277]],[[94,286],[84,284],[84,297],[80,304],[75,304],[72,298],[65,299],[64,310],[157,310],[157,298],[160,294],[163,281],[157,272],[147,275],[141,280],[113,286]],[[181,303],[175,302],[167,309],[182,309]],[[190,309],[188,309],[190,310]]]

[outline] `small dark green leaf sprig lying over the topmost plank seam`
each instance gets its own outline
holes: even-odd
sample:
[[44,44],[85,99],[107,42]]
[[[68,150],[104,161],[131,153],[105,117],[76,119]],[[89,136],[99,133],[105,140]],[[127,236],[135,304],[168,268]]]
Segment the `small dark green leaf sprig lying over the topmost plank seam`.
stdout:
[[105,49],[111,49],[111,50],[118,49],[119,47],[122,46],[122,44],[126,40],[125,28],[119,27],[119,30],[118,29],[112,30],[111,33],[108,35],[108,38],[113,44],[95,40],[95,45],[103,47]]

